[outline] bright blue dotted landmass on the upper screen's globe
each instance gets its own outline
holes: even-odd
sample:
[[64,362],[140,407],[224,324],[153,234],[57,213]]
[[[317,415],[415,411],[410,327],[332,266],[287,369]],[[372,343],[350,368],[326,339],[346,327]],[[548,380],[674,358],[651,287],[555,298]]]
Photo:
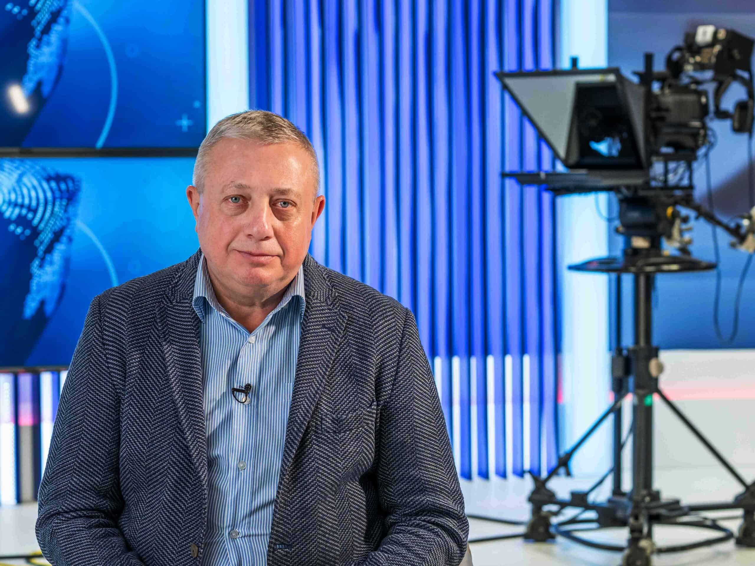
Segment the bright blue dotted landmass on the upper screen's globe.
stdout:
[[29,0],[26,8],[14,2],[7,2],[4,8],[20,21],[31,19],[34,29],[34,37],[26,47],[29,60],[21,79],[23,94],[29,97],[37,85],[41,85],[42,96],[47,98],[60,75],[66,54],[72,2]]

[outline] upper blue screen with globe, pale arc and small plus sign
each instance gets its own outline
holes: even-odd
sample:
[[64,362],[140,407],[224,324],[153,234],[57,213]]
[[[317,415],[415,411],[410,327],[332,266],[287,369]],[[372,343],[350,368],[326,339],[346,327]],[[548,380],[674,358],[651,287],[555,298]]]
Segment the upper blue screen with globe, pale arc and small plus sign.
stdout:
[[203,0],[0,0],[0,146],[196,148]]

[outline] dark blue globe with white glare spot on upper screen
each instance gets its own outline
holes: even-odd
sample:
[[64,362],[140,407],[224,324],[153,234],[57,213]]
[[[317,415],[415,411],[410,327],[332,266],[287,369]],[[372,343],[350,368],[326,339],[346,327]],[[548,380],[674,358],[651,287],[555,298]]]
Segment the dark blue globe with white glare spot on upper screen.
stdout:
[[57,84],[71,10],[70,0],[0,0],[2,145],[22,145]]

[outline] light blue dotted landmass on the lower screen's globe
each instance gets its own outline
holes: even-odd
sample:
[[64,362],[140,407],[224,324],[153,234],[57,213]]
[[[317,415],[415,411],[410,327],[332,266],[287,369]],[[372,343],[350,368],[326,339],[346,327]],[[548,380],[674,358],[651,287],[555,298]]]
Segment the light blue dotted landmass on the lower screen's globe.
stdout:
[[63,292],[81,182],[31,161],[0,160],[0,229],[19,244],[34,238],[36,254],[29,272],[23,318],[44,306],[52,315]]

